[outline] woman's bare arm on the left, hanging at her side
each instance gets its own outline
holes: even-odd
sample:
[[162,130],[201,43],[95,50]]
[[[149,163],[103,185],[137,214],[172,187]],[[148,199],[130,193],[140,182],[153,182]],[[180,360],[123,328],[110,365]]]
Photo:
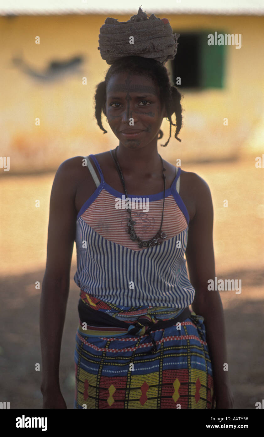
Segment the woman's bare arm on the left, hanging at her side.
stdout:
[[51,190],[47,264],[40,307],[44,408],[67,408],[60,392],[59,362],[76,229],[74,160],[66,160],[59,166]]

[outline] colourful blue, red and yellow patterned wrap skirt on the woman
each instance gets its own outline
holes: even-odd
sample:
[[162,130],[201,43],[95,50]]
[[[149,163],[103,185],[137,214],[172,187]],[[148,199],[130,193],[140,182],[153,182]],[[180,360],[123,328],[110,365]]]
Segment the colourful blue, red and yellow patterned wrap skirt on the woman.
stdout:
[[[80,296],[80,300],[92,309],[130,323],[135,323],[142,314],[154,320],[153,314],[159,311],[162,320],[165,320],[166,310],[166,320],[173,316],[172,309],[164,307],[117,308],[84,291]],[[140,333],[132,335],[124,328],[86,325],[84,329],[80,319],[74,354],[74,408],[215,408],[213,373],[203,320],[202,316],[191,312],[181,323],[152,330],[151,335],[144,334],[144,327]],[[132,327],[129,323],[128,326]]]

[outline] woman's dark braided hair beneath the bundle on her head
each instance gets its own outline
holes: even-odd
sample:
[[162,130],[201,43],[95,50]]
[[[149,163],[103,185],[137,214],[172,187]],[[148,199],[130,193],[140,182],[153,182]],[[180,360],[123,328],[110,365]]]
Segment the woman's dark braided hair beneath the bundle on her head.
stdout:
[[[178,138],[179,131],[182,127],[182,107],[180,104],[181,94],[179,90],[171,85],[168,71],[166,67],[159,61],[151,58],[143,58],[141,56],[125,56],[123,58],[117,59],[108,69],[104,82],[100,82],[96,87],[95,92],[95,118],[97,124],[102,129],[104,133],[107,133],[102,125],[101,115],[102,112],[105,114],[105,104],[106,104],[106,87],[110,77],[117,73],[124,73],[129,71],[132,74],[142,74],[143,76],[150,77],[154,82],[158,84],[160,99],[162,104],[165,103],[166,113],[169,118],[169,139],[171,138],[171,127],[176,126],[176,132],[174,137]],[[173,123],[171,116],[176,115],[176,124]],[[106,114],[105,114],[106,115]],[[159,137],[163,137],[163,132],[159,129]],[[161,146],[166,147],[168,142],[161,144]]]

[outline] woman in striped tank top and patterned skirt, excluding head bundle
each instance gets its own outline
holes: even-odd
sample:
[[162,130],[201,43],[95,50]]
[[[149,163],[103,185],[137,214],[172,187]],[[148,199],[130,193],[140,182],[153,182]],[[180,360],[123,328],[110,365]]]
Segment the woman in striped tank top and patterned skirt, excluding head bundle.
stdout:
[[180,99],[162,62],[116,59],[97,86],[95,115],[104,132],[107,116],[118,146],[58,168],[41,296],[43,408],[67,408],[59,359],[74,240],[74,408],[233,406],[223,308],[219,292],[207,290],[216,276],[210,190],[157,149],[165,117],[178,139]]

